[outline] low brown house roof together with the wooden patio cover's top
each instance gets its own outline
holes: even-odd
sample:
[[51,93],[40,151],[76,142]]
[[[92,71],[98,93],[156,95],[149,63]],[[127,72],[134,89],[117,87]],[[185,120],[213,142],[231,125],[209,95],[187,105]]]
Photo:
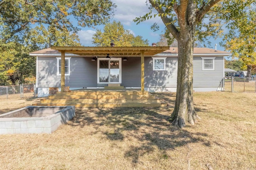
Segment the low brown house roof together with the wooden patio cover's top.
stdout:
[[[144,51],[144,56],[178,56],[177,47],[51,47],[30,53],[31,56],[60,56],[60,51],[65,51],[66,56],[82,55],[82,56],[141,56],[141,51]],[[201,55],[218,55],[229,56],[230,52],[215,51],[209,48],[194,48],[194,56]]]

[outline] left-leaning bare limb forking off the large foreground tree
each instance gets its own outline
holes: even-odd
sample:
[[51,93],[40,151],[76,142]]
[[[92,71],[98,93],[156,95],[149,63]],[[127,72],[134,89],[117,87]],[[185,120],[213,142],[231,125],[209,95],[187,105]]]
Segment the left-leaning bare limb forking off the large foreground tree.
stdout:
[[[164,14],[164,11],[160,8],[160,5],[155,0],[149,0],[150,4],[157,10],[158,14]],[[160,15],[162,21],[166,25],[166,28],[172,33],[173,37],[175,39],[178,39],[179,31],[178,29],[170,23],[170,20],[168,17],[164,15]]]

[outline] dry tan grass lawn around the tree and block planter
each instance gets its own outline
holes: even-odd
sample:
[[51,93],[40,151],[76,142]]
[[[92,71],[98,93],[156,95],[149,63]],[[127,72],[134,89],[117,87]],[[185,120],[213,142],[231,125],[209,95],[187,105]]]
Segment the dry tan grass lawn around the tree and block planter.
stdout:
[[[256,94],[194,93],[200,121],[178,129],[167,107],[76,108],[52,134],[0,135],[0,169],[256,169]],[[26,103],[28,102],[28,103]],[[0,113],[36,98],[0,100]]]

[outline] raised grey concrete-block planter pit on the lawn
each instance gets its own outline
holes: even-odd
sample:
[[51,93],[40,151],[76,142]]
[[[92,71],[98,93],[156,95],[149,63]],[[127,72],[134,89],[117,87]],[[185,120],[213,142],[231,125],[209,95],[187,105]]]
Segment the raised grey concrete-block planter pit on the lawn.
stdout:
[[74,116],[74,106],[23,107],[0,115],[0,134],[53,133]]

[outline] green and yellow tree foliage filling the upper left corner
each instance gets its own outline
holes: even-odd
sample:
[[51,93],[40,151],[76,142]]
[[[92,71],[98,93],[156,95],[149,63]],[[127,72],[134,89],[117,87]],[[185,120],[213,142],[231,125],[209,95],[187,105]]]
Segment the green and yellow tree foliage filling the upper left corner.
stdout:
[[80,45],[78,27],[106,23],[114,14],[110,0],[1,0],[0,84],[33,80],[36,59],[28,53]]

